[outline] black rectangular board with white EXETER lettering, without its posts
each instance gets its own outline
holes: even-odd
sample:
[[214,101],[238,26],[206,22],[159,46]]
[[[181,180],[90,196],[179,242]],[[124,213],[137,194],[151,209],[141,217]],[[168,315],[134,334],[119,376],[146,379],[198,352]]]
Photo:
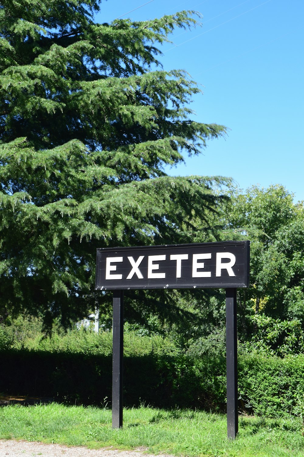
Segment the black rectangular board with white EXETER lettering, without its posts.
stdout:
[[96,265],[98,290],[248,287],[249,241],[101,248]]

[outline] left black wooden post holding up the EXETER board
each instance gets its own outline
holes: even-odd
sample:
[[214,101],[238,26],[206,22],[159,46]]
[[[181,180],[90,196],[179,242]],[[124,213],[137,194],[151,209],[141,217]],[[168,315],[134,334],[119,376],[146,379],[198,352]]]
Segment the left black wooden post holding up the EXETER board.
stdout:
[[124,291],[113,291],[112,428],[123,426]]

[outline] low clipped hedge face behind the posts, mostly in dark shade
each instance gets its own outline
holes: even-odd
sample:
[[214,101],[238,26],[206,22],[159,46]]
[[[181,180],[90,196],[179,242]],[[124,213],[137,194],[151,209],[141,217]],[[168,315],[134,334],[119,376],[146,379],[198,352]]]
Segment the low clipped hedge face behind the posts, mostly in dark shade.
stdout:
[[[170,351],[169,351],[170,352]],[[77,404],[111,402],[112,359],[109,354],[73,351],[4,349],[0,352],[0,392],[52,397]],[[265,357],[240,354],[239,408],[250,414],[294,414],[304,394],[304,355]],[[152,349],[124,357],[124,405],[195,407],[224,410],[224,357],[190,357]]]

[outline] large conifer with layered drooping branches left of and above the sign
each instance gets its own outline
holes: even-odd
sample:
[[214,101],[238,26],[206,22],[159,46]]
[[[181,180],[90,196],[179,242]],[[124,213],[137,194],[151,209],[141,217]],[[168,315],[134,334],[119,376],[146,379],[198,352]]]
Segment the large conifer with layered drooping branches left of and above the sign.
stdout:
[[0,5],[4,314],[83,315],[96,247],[187,242],[192,219],[216,207],[212,180],[164,172],[226,131],[191,120],[200,90],[158,60],[194,13],[96,24],[98,10],[98,0]]

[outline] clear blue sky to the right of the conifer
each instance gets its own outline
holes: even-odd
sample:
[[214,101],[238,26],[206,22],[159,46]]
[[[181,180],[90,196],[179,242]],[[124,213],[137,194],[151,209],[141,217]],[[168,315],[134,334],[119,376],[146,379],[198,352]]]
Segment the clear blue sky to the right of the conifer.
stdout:
[[108,0],[96,20],[199,11],[202,27],[177,30],[160,60],[201,85],[204,94],[191,104],[194,119],[230,128],[226,139],[209,142],[169,174],[231,176],[243,189],[283,184],[295,202],[304,200],[304,0],[144,3]]

